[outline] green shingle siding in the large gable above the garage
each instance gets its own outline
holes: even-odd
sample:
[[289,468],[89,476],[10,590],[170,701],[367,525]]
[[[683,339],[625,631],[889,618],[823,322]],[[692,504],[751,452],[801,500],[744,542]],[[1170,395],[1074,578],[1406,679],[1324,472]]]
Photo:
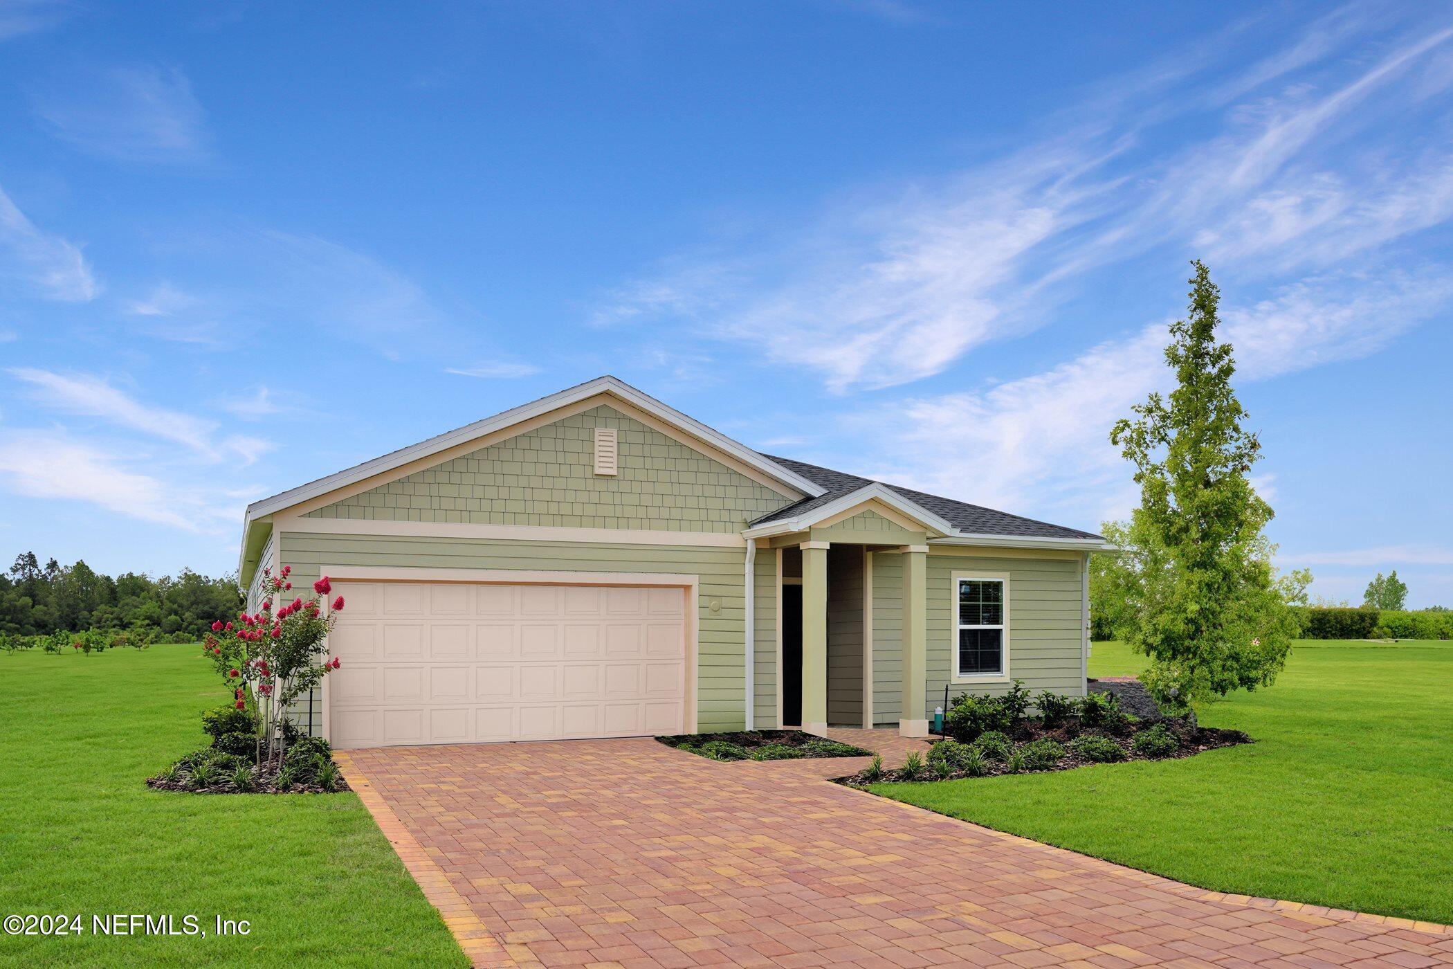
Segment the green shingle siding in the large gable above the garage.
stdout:
[[[619,472],[594,474],[594,429]],[[572,414],[307,517],[731,533],[790,504],[766,485],[610,407]]]

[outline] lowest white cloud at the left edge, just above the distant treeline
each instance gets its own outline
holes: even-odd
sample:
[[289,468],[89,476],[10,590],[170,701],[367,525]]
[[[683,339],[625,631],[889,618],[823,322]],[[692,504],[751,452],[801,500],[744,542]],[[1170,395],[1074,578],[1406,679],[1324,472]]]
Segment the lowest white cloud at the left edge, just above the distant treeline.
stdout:
[[52,431],[0,433],[0,478],[15,494],[84,501],[187,532],[231,529],[244,508],[237,495],[129,471],[121,455]]

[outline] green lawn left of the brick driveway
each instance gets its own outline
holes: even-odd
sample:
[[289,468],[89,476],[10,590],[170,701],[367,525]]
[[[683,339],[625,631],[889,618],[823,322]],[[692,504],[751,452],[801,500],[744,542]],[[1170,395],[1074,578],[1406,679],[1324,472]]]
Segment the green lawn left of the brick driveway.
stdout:
[[[224,697],[198,646],[0,654],[0,915],[193,914],[201,937],[0,936],[0,965],[468,960],[349,795],[199,796],[142,780]],[[218,937],[222,915],[250,936]]]

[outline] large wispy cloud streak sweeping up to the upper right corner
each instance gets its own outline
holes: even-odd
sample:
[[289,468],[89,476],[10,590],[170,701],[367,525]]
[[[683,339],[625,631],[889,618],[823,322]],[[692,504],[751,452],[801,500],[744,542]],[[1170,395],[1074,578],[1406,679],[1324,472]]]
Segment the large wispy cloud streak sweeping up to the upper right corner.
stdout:
[[[1155,247],[1247,275],[1327,272],[1453,216],[1438,108],[1450,41],[1425,26],[1399,39],[1343,10],[1210,94],[1203,77],[1187,90],[1190,68],[1135,74],[1120,99],[1101,92],[1010,157],[676,257],[610,293],[597,321],[686,320],[847,391],[940,373],[1042,325],[1091,270]],[[1183,128],[1209,134],[1145,137],[1187,115]],[[1421,150],[1340,151],[1393,118],[1422,122]]]

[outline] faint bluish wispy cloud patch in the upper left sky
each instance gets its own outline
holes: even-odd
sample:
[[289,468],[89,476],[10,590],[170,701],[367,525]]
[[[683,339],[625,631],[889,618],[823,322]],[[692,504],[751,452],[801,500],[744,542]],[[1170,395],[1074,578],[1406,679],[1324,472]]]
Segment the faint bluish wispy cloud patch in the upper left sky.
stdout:
[[61,141],[92,154],[148,164],[211,158],[206,113],[177,68],[73,70],[31,92],[31,106]]

